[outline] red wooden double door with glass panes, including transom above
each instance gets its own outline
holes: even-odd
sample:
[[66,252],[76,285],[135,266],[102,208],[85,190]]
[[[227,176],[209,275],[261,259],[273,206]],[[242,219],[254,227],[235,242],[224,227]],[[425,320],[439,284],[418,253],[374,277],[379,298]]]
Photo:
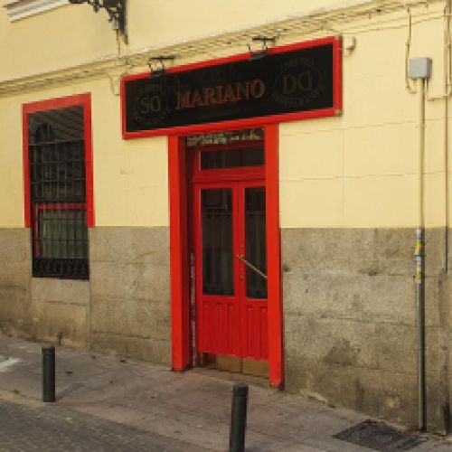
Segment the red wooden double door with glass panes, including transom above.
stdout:
[[198,353],[268,360],[264,155],[259,142],[193,152]]

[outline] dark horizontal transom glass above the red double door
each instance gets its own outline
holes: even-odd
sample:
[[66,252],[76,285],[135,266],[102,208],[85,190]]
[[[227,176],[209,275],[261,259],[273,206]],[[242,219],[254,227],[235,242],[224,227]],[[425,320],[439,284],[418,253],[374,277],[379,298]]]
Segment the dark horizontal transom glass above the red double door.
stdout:
[[219,151],[202,151],[201,169],[235,168],[240,166],[264,165],[264,148],[240,147]]

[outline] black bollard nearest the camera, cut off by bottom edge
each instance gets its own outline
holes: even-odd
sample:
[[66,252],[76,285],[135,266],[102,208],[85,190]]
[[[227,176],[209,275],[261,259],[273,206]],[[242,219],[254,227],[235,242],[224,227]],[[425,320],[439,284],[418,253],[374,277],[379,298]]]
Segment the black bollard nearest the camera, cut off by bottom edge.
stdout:
[[236,383],[232,392],[230,452],[244,452],[247,428],[248,384]]

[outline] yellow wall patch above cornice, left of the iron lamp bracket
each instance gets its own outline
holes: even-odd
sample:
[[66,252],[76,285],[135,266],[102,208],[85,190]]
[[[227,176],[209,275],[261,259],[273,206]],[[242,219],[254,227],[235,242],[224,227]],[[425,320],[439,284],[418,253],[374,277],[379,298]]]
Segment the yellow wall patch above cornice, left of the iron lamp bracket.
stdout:
[[[105,13],[67,5],[10,23],[0,8],[0,80],[92,61],[117,52]],[[90,13],[90,14],[88,14]]]

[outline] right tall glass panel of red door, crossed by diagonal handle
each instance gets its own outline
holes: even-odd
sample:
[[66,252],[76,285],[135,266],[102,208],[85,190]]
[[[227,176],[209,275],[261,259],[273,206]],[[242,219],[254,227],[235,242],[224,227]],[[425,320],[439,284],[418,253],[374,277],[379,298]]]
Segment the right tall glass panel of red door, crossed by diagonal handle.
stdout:
[[[245,189],[245,250],[253,267],[267,275],[265,188]],[[267,298],[267,279],[246,266],[247,297]]]

